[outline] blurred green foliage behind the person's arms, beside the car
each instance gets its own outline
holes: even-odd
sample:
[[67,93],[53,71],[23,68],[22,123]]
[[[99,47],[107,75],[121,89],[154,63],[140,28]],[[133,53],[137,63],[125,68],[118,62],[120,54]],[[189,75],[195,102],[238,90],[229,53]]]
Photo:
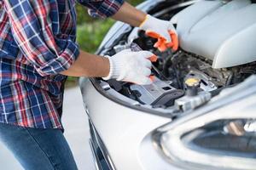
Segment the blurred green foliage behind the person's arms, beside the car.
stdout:
[[[126,0],[126,2],[136,6],[137,4],[142,3],[143,0]],[[96,52],[96,49],[101,44],[102,39],[108,32],[109,28],[113,25],[114,20],[101,20],[92,18],[87,13],[87,9],[79,3],[77,3],[76,8],[78,14],[77,41],[79,42],[79,46],[81,49],[94,54]],[[76,85],[78,85],[78,78],[68,77],[66,87],[70,88]]]

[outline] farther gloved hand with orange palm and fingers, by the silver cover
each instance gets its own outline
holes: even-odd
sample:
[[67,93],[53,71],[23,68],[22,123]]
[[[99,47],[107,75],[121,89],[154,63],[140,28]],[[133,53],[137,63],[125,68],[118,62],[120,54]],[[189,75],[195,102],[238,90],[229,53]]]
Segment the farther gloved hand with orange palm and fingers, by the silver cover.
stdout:
[[154,44],[154,48],[158,48],[161,52],[166,51],[167,48],[177,50],[177,32],[171,22],[159,20],[148,14],[140,28],[146,31],[149,37],[157,38],[158,41]]

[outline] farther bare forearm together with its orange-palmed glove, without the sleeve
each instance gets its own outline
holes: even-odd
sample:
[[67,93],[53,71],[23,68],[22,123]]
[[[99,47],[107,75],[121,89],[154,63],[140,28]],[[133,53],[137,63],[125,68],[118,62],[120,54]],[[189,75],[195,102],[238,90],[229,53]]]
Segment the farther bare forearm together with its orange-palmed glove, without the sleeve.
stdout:
[[177,32],[169,21],[156,19],[134,8],[129,3],[124,3],[112,18],[131,26],[140,27],[146,31],[149,37],[158,39],[154,44],[154,48],[158,48],[160,51],[165,51],[167,48],[172,48],[176,51],[178,48]]

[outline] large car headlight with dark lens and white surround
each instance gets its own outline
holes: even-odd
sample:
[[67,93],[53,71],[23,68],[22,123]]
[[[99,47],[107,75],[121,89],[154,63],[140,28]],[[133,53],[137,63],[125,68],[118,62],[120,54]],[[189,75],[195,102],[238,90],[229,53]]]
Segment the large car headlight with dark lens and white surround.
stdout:
[[160,127],[154,133],[154,144],[177,167],[255,169],[256,95],[253,88],[252,84],[237,87],[239,91],[231,90],[221,102],[214,102],[224,104],[224,100],[240,98],[212,111],[190,113]]

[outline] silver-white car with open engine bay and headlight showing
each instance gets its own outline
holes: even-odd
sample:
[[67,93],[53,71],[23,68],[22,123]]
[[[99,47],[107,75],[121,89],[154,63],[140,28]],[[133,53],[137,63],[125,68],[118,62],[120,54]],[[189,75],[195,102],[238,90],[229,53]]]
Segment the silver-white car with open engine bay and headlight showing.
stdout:
[[148,0],[170,20],[179,49],[160,53],[143,31],[117,22],[96,54],[125,48],[158,56],[154,83],[81,78],[96,169],[256,169],[256,4]]

